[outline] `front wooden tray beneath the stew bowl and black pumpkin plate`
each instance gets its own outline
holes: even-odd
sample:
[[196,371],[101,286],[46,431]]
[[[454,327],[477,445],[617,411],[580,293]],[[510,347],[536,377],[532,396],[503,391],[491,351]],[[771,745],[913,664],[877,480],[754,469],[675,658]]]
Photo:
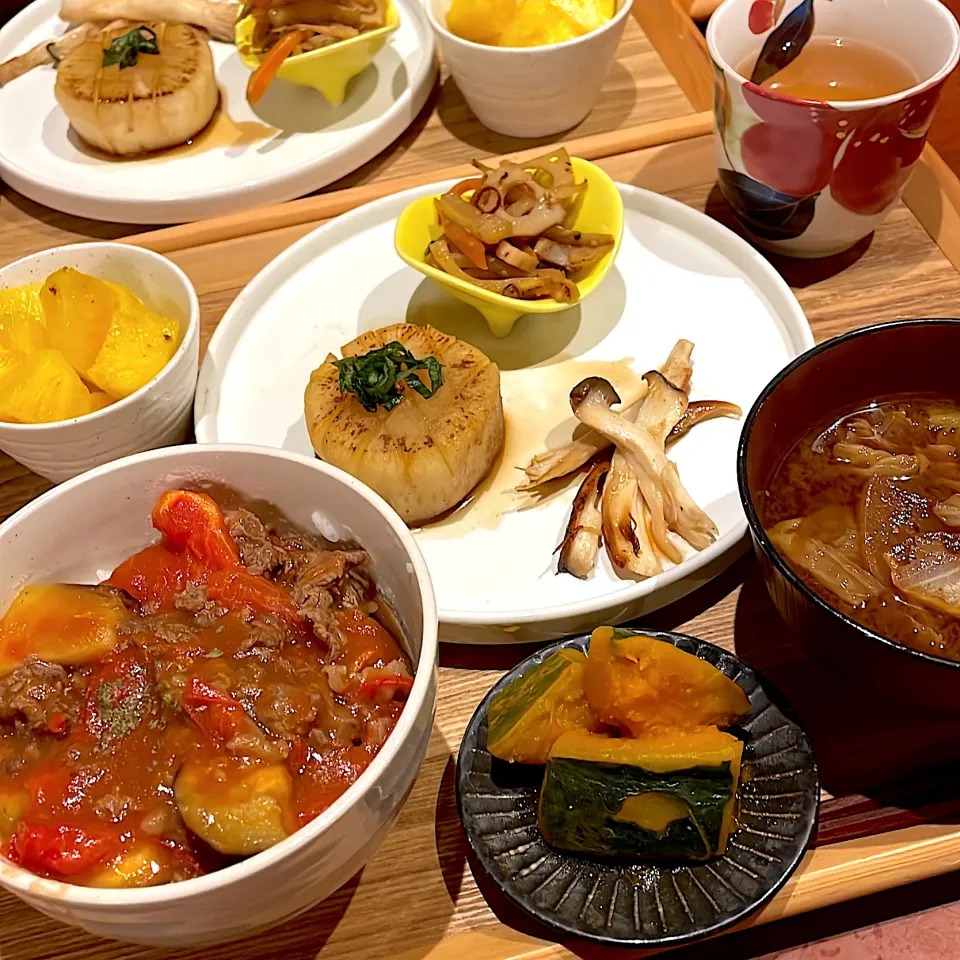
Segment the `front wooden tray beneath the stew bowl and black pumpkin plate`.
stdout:
[[[709,136],[690,136],[600,159],[617,180],[677,197],[726,220],[714,187]],[[624,132],[616,143],[657,144],[663,125]],[[590,150],[597,141],[587,139]],[[616,144],[614,144],[616,145]],[[579,150],[577,152],[580,152]],[[596,154],[594,154],[596,156]],[[432,176],[442,177],[446,171]],[[165,250],[196,284],[204,343],[243,285],[279,250],[331,215],[389,189],[368,185],[258,214],[161,230],[130,242]],[[263,230],[263,226],[270,229]],[[929,150],[901,204],[873,238],[823,261],[778,263],[818,339],[884,320],[949,314],[960,298],[960,182]],[[0,516],[45,484],[0,460]],[[745,558],[719,580],[646,625],[682,629],[736,652],[792,700],[810,730],[825,793],[818,846],[780,895],[749,922],[766,923],[955,868],[960,859],[960,789],[937,762],[960,759],[957,724],[911,723],[839,693],[779,620]],[[373,960],[532,960],[597,951],[540,939],[506,905],[477,888],[466,861],[453,773],[475,705],[524,656],[523,648],[445,647],[437,724],[426,762],[400,818],[363,872],[330,900],[279,930],[242,944],[181,953],[203,960],[277,956]],[[929,727],[929,729],[928,729]],[[924,770],[922,775],[917,771]],[[894,787],[883,784],[893,783]],[[826,791],[830,791],[827,793]],[[0,955],[60,960],[159,958],[156,951],[96,941],[3,896]],[[494,912],[496,911],[496,912]],[[164,954],[163,956],[169,956]]]

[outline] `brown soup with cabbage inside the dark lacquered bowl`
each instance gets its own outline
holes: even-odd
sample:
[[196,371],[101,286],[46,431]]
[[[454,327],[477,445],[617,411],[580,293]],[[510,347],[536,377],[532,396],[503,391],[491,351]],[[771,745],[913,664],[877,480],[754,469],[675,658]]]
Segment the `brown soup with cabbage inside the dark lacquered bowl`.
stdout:
[[960,407],[874,404],[803,437],[760,500],[774,546],[831,606],[960,660]]

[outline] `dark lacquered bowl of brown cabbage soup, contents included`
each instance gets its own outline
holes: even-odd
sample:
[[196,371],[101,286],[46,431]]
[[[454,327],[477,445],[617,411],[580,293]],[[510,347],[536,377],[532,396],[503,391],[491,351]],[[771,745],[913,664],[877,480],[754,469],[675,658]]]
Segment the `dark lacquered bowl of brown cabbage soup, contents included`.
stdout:
[[738,453],[770,596],[825,663],[960,713],[960,321],[828,340],[767,385]]

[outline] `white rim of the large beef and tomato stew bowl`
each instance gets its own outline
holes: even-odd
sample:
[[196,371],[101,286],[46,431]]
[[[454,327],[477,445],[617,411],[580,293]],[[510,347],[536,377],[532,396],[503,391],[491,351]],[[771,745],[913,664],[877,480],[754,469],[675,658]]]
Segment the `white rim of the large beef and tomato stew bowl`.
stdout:
[[[21,867],[10,860],[2,859],[0,860],[0,882],[12,893],[42,896],[51,903],[63,903],[70,906],[113,907],[123,910],[125,908],[146,908],[161,903],[187,900],[195,895],[209,893],[217,888],[227,888],[234,882],[249,879],[256,875],[263,867],[284,860],[294,850],[309,846],[321,835],[336,830],[343,819],[343,815],[371,789],[375,790],[377,788],[381,775],[391,764],[396,762],[401,741],[406,740],[414,733],[416,718],[427,701],[432,675],[436,672],[436,658],[439,650],[439,621],[433,583],[426,562],[420,552],[420,547],[399,515],[379,494],[338,467],[306,457],[303,454],[254,444],[188,443],[174,447],[161,447],[157,450],[147,450],[143,453],[122,457],[119,460],[112,460],[103,466],[95,467],[53,487],[53,489],[48,490],[22,507],[3,523],[0,523],[0,534],[5,533],[20,518],[44,509],[51,500],[62,496],[64,493],[70,493],[76,487],[91,482],[95,483],[106,474],[149,461],[158,461],[158,469],[162,470],[166,460],[177,461],[180,458],[190,460],[197,456],[210,460],[215,465],[218,456],[221,454],[289,460],[300,466],[316,470],[318,473],[326,474],[329,480],[349,487],[361,499],[366,500],[377,512],[380,520],[399,538],[404,552],[407,554],[406,562],[408,566],[413,568],[423,611],[420,653],[416,657],[413,687],[400,719],[376,756],[344,793],[315,819],[304,824],[288,837],[266,850],[261,850],[259,853],[245,857],[236,863],[214,870],[212,873],[192,877],[189,880],[178,880],[158,884],[154,887],[118,890],[85,887],[40,877],[25,867]],[[174,469],[173,463],[171,463],[170,469]],[[414,659],[412,655],[411,659]],[[399,809],[400,806],[397,807],[397,810]]]

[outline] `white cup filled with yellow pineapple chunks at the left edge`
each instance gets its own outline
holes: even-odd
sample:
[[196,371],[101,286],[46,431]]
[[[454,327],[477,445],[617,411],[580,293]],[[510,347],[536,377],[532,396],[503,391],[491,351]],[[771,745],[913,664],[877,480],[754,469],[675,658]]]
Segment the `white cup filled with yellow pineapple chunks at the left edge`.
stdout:
[[0,450],[59,482],[180,443],[200,307],[183,271],[122,243],[81,243],[0,269]]

